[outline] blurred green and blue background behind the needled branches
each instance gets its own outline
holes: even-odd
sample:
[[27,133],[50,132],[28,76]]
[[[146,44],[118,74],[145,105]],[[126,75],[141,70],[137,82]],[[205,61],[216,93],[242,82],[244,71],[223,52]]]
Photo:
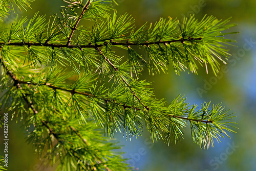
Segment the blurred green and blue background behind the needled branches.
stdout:
[[[172,68],[168,74],[149,76],[144,72],[142,79],[153,81],[152,87],[158,99],[167,102],[179,94],[185,94],[187,102],[201,106],[203,102],[212,104],[222,102],[230,112],[236,112],[237,133],[230,134],[231,139],[221,139],[214,148],[200,149],[194,144],[190,128],[184,132],[184,139],[178,144],[169,146],[163,141],[152,143],[144,131],[142,137],[125,140],[123,134],[116,134],[122,148],[124,158],[139,170],[256,170],[256,1],[251,0],[117,0],[115,6],[118,14],[125,12],[136,19],[136,26],[145,22],[155,22],[159,17],[173,17],[182,20],[183,16],[195,14],[201,19],[205,14],[214,15],[219,19],[232,17],[230,23],[238,26],[230,32],[239,34],[228,35],[227,38],[237,40],[236,46],[229,46],[232,57],[227,61],[227,69],[221,69],[217,77],[211,72],[206,74],[205,68],[198,75],[182,72],[174,74]],[[11,13],[5,23],[11,23],[16,14],[29,18],[37,11],[47,16],[58,13],[61,0],[36,0],[32,10]],[[5,111],[6,112],[6,111]],[[54,170],[43,168],[34,154],[33,147],[25,142],[26,132],[21,123],[15,124],[9,119],[9,166],[8,170],[38,171]],[[3,131],[1,131],[2,137]],[[2,138],[1,138],[2,139]],[[2,141],[2,140],[1,140]],[[3,144],[2,142],[0,142]],[[2,145],[1,145],[2,148]],[[2,149],[1,153],[3,152]]]

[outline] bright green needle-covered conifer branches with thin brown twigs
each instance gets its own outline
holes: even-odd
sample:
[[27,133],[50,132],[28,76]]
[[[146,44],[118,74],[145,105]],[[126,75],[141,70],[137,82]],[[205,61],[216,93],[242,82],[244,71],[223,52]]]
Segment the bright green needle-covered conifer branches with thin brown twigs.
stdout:
[[[140,79],[143,69],[155,75],[170,67],[179,75],[205,65],[217,74],[233,42],[224,38],[234,26],[229,19],[169,17],[137,28],[131,15],[117,15],[113,1],[63,1],[59,14],[17,16],[0,33],[1,106],[33,128],[28,142],[47,163],[58,162],[58,170],[129,170],[108,138],[117,131],[127,138],[146,129],[153,141],[169,143],[190,126],[201,148],[234,132],[234,116],[221,104],[158,100]],[[1,19],[12,5],[23,10],[29,3],[3,0]]]

